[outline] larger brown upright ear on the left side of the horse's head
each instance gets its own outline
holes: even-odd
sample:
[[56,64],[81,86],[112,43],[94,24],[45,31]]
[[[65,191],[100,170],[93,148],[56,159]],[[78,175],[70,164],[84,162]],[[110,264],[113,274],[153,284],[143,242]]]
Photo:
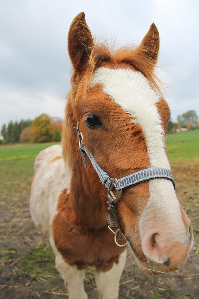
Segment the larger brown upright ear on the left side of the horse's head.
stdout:
[[68,54],[76,73],[84,72],[93,45],[85,14],[81,12],[72,21],[68,32]]

